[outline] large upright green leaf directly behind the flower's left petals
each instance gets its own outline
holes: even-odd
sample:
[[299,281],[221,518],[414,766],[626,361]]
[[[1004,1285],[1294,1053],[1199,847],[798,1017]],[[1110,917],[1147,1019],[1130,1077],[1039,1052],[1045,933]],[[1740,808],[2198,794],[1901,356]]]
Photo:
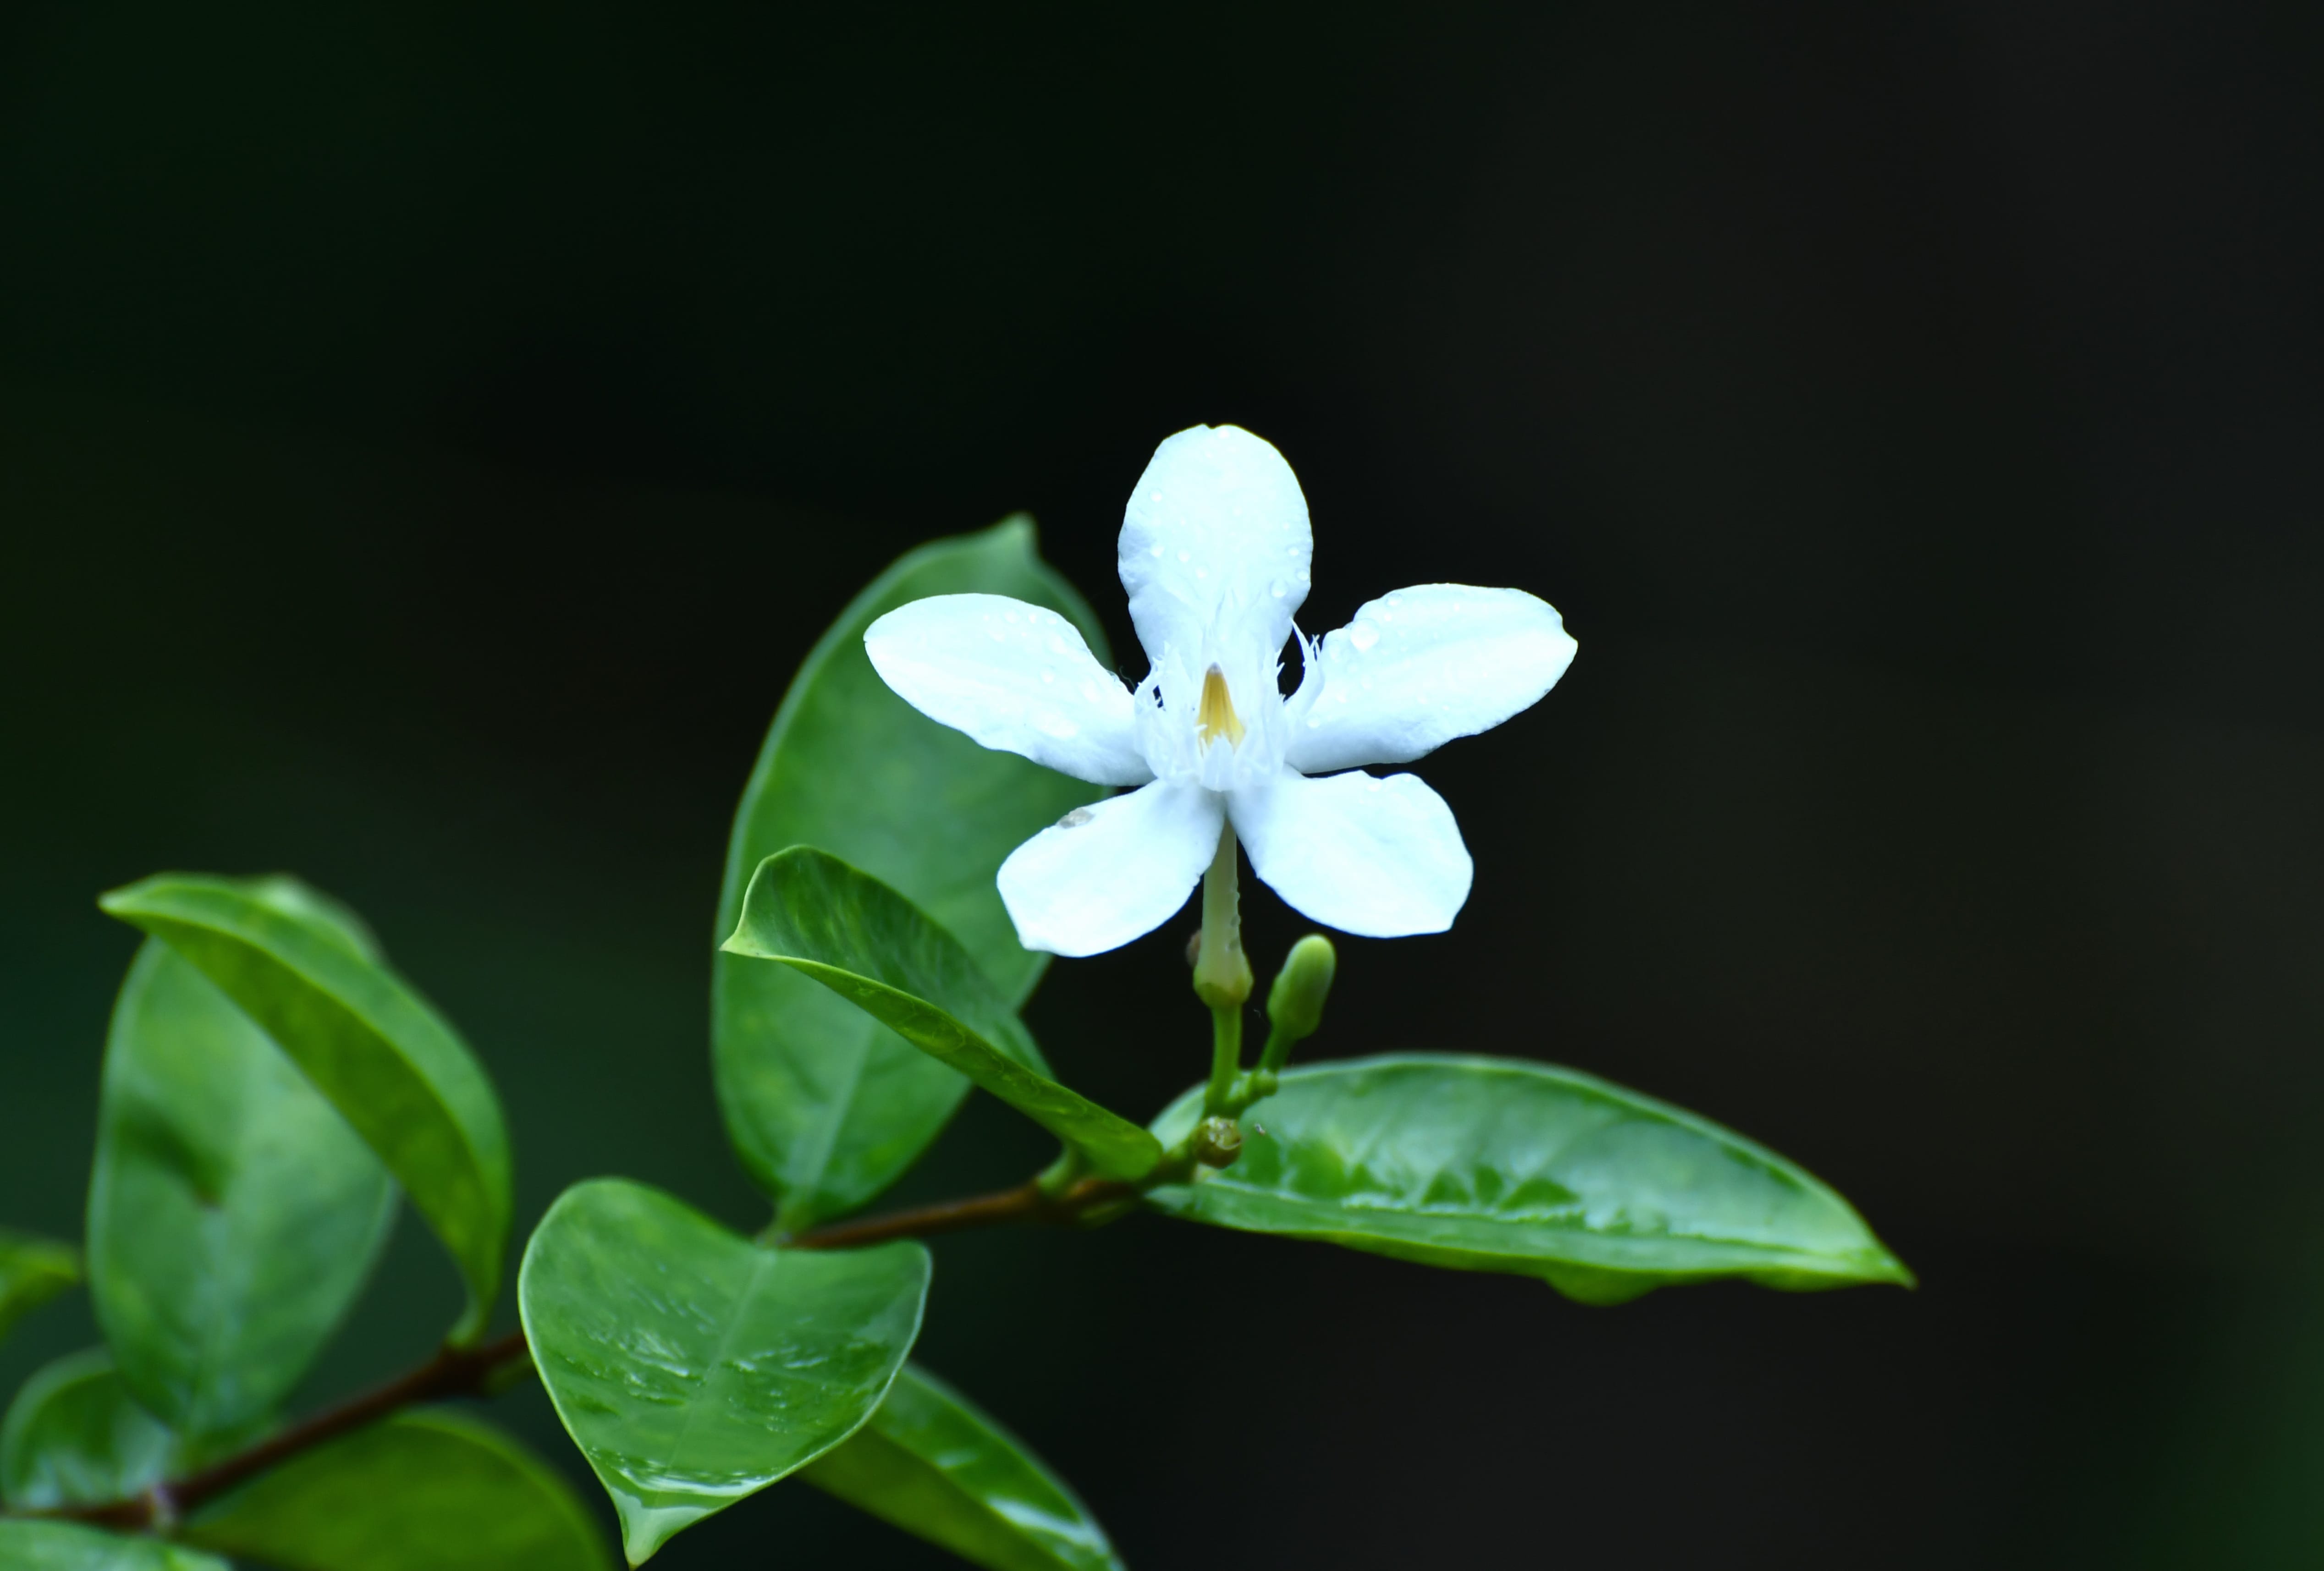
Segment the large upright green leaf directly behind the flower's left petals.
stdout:
[[[1106,792],[937,725],[888,690],[862,644],[899,604],[969,593],[1048,607],[1099,665],[1111,660],[1090,607],[1034,553],[1027,518],[897,560],[839,614],[783,695],[734,811],[713,941],[734,932],[765,858],[823,846],[918,902],[1011,1006],[1032,995],[1048,955],[1018,946],[992,878],[1025,839]],[[783,1229],[885,1190],[967,1095],[957,1074],[804,976],[732,955],[713,967],[718,1106]]]

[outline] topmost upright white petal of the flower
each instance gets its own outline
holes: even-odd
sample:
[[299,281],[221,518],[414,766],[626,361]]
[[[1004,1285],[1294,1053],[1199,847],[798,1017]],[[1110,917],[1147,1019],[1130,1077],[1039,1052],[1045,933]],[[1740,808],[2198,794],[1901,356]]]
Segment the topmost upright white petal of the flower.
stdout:
[[1155,665],[1206,639],[1257,639],[1274,658],[1308,590],[1315,537],[1292,467],[1239,425],[1197,425],[1155,449],[1122,509],[1129,620]]

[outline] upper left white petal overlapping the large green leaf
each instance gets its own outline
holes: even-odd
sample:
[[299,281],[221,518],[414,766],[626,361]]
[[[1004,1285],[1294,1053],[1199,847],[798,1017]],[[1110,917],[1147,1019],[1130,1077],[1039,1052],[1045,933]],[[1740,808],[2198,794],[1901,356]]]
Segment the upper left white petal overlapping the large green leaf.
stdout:
[[1055,611],[1006,595],[930,595],[871,623],[865,653],[906,704],[988,748],[1095,786],[1153,779],[1129,688]]

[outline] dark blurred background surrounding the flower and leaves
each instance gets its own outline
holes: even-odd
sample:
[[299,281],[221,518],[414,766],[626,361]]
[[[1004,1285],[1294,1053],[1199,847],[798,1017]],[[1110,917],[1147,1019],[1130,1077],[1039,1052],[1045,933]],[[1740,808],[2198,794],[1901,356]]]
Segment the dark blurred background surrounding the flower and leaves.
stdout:
[[[374,920],[521,1227],[751,1225],[709,923],[792,665],[1030,507],[1139,674],[1120,504],[1236,421],[1313,630],[1462,579],[1583,644],[1420,767],[1476,895],[1315,1048],[1671,1097],[1924,1287],[1132,1220],[941,1243],[925,1360],[1146,1569],[2315,1564],[2319,65],[2250,5],[12,5],[0,1218],[77,1229],[93,895],[193,867]],[[1032,1009],[1132,1111],[1202,1067],[1176,941]],[[1041,1155],[978,1102],[911,1192]],[[309,1399],[456,1306],[404,1218]],[[781,1487],[665,1564],[937,1562]]]

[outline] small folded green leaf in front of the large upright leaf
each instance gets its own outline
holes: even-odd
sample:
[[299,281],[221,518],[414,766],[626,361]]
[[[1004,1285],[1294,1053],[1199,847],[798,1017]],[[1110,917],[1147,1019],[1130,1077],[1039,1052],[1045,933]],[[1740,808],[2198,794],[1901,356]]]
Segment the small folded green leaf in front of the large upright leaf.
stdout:
[[1046,1069],[1032,1034],[953,934],[825,851],[792,846],[760,862],[725,951],[813,976],[1032,1118],[1104,1178],[1136,1181],[1162,1160],[1153,1134],[1027,1069]]

